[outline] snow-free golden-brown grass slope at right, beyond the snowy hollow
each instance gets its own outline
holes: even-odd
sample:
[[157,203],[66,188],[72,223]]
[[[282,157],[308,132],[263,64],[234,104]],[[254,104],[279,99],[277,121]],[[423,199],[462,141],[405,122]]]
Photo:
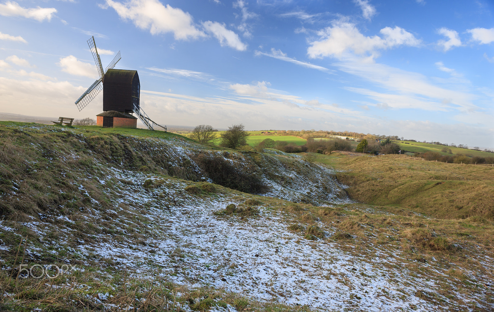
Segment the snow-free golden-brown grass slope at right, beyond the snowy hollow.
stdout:
[[375,205],[400,205],[438,218],[494,220],[494,168],[424,161],[405,155],[321,155],[342,172],[349,195]]

